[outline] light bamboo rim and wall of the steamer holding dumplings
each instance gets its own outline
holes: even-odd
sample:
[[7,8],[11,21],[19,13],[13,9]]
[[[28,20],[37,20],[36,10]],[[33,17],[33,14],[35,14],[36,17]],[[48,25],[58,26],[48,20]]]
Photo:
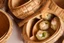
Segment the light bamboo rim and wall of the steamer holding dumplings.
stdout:
[[[50,11],[50,10],[48,10],[46,13],[52,13],[52,14],[55,14],[54,12],[52,12],[52,11]],[[42,16],[44,16],[46,13],[40,13],[40,15],[42,15]],[[35,17],[33,17],[33,18],[31,18],[25,25],[24,25],[24,27],[23,27],[23,37],[24,37],[24,40],[26,41],[26,43],[55,43],[61,36],[62,36],[62,34],[63,34],[63,31],[62,31],[62,29],[63,29],[63,26],[64,26],[64,24],[63,24],[63,21],[62,21],[62,19],[61,19],[61,17],[59,17],[59,16],[57,16],[57,14],[55,14],[58,18],[59,18],[59,20],[60,20],[60,28],[58,29],[58,30],[56,30],[56,32],[51,36],[51,37],[49,37],[47,40],[44,40],[44,41],[39,41],[39,42],[37,42],[37,41],[32,41],[32,40],[30,40],[31,38],[29,37],[29,33],[31,32],[30,30],[31,30],[31,28],[34,26],[32,26],[32,22],[33,22],[33,20],[34,20],[34,18],[38,18],[38,19],[40,19],[38,16],[40,16],[40,15],[37,15],[37,16],[35,16]],[[33,37],[32,37],[33,38]],[[34,39],[34,38],[33,38]]]

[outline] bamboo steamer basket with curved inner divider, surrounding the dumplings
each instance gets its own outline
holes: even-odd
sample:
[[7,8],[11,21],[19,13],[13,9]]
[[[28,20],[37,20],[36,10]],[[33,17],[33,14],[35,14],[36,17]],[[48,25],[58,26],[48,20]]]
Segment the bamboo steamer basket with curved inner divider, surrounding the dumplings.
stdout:
[[[37,15],[37,16],[35,16],[35,17],[33,17],[33,18],[31,18],[25,25],[24,25],[24,27],[23,27],[23,38],[24,38],[24,40],[27,42],[27,43],[55,43],[61,36],[62,36],[62,34],[63,34],[63,31],[62,31],[62,29],[63,29],[63,21],[62,21],[62,19],[61,19],[61,17],[59,17],[59,16],[57,16],[59,19],[56,19],[56,20],[59,20],[59,21],[57,21],[57,25],[58,25],[58,27],[56,28],[56,30],[55,29],[53,29],[53,30],[55,30],[55,32],[53,33],[53,31],[52,30],[50,30],[51,28],[48,28],[48,29],[40,29],[40,27],[41,27],[41,25],[40,25],[40,27],[39,27],[39,23],[41,22],[41,21],[43,21],[44,19],[43,18],[46,18],[46,19],[48,19],[49,17],[50,17],[50,15],[47,15],[47,14],[52,14],[52,15],[56,15],[57,16],[57,14],[55,14],[55,13],[53,13],[52,11],[47,11],[46,13],[44,13],[44,14],[42,14],[42,13],[40,13],[40,15]],[[47,16],[49,16],[49,17],[47,17]],[[52,18],[52,17],[51,17]],[[48,20],[46,20],[45,19],[45,21],[48,21]],[[49,21],[50,22],[50,21]],[[54,20],[52,21],[53,23],[55,22]],[[48,22],[46,22],[46,23],[48,23]],[[44,25],[44,24],[43,24]],[[42,26],[43,26],[42,25]],[[51,25],[50,25],[51,26]],[[45,27],[44,27],[45,28]],[[55,28],[55,27],[54,27]],[[44,40],[40,40],[41,38],[38,38],[38,31],[48,31],[48,32],[50,32],[52,35],[50,36],[50,37],[48,37],[48,38],[46,38],[46,39],[44,39]],[[38,34],[36,34],[36,33],[38,33]],[[41,34],[41,33],[40,33]],[[37,36],[36,36],[37,35]],[[46,35],[46,37],[47,37],[48,35]],[[39,39],[39,40],[37,40],[37,39]]]

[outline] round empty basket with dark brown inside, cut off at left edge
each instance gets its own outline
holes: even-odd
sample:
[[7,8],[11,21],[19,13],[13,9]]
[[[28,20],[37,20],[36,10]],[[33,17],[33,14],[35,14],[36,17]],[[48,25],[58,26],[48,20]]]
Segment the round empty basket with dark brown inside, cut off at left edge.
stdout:
[[12,20],[6,12],[0,10],[0,43],[6,43],[12,33]]

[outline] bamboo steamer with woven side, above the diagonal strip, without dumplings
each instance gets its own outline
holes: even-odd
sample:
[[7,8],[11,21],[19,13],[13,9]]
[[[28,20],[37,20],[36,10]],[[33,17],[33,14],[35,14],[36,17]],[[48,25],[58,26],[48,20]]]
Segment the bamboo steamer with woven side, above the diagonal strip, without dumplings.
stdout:
[[46,1],[47,0],[9,0],[8,6],[17,18],[25,19],[36,12]]

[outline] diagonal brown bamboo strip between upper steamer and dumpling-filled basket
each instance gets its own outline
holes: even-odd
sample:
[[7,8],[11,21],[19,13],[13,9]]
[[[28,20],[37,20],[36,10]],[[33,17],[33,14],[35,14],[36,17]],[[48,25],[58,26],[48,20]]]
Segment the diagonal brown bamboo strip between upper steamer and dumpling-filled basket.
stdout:
[[19,27],[22,27],[26,22],[28,22],[28,20],[30,20],[31,18],[33,18],[34,16],[40,15],[41,13],[45,13],[46,11],[48,11],[48,6],[50,5],[50,0],[47,0],[45,4],[42,4],[42,6],[31,16],[25,18],[23,21],[20,21],[18,23]]

